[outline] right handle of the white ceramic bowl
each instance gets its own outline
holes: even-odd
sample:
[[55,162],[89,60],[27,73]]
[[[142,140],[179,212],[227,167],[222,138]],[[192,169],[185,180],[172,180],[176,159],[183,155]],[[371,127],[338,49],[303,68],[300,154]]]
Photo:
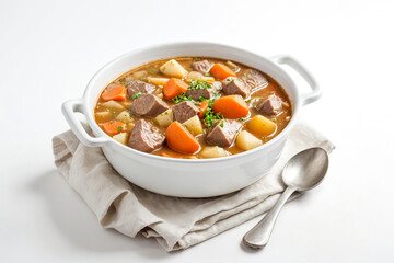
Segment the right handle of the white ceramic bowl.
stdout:
[[312,102],[317,101],[322,96],[322,90],[320,89],[316,80],[312,77],[312,75],[303,67],[300,62],[298,62],[294,58],[287,55],[278,55],[271,57],[274,62],[281,65],[288,65],[292,69],[294,69],[311,87],[312,92],[301,94],[302,105],[310,104]]

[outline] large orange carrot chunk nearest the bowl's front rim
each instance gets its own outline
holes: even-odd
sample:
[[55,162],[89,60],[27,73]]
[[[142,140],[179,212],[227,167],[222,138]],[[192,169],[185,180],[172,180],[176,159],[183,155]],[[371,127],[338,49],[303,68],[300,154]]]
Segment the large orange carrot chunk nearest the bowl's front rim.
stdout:
[[193,155],[200,148],[197,139],[178,122],[170,124],[165,139],[171,149],[181,153]]

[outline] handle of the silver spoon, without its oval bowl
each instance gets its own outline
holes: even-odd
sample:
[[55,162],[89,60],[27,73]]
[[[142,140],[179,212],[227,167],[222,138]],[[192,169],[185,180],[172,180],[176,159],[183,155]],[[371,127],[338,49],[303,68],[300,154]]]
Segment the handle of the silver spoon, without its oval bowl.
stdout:
[[254,249],[259,249],[268,243],[279,211],[294,191],[294,187],[287,187],[285,190],[274,208],[244,236],[243,241],[245,244]]

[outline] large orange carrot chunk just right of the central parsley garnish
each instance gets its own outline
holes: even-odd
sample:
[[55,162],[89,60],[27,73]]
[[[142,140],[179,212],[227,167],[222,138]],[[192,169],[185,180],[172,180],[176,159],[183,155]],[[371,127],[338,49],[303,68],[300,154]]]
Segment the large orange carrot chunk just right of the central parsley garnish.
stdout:
[[240,118],[248,115],[248,106],[240,95],[219,98],[212,106],[213,112],[221,113],[225,118]]

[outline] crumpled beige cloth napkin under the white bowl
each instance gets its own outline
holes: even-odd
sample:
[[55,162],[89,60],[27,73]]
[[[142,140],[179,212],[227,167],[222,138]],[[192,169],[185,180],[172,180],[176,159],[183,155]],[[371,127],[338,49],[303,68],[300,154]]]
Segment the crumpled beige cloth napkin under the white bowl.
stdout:
[[279,161],[258,182],[212,198],[176,198],[140,188],[121,178],[100,148],[80,144],[71,130],[53,139],[55,163],[105,228],[154,237],[166,250],[186,249],[269,210],[283,191],[280,172],[297,152],[335,147],[303,123],[289,134]]

